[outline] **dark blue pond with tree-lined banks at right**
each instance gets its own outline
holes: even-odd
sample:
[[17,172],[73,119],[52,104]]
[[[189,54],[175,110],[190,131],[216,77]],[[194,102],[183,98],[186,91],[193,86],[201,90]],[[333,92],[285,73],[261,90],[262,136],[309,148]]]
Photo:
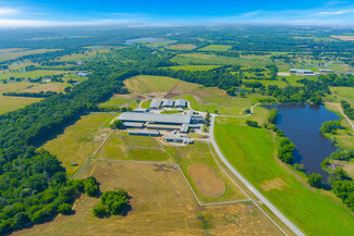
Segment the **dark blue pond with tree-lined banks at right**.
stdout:
[[321,135],[319,128],[327,121],[338,121],[341,117],[324,105],[286,104],[268,105],[278,110],[277,127],[295,145],[294,163],[304,164],[309,173],[324,175],[328,178],[320,164],[337,150],[332,142]]

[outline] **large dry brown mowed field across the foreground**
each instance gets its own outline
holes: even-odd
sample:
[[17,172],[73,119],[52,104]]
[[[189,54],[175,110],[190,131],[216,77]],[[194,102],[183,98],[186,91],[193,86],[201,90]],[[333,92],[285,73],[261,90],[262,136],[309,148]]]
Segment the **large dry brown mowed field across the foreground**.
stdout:
[[91,161],[82,177],[131,196],[126,216],[93,216],[97,198],[82,197],[74,215],[59,215],[14,235],[282,235],[253,204],[198,207],[180,171],[156,164]]

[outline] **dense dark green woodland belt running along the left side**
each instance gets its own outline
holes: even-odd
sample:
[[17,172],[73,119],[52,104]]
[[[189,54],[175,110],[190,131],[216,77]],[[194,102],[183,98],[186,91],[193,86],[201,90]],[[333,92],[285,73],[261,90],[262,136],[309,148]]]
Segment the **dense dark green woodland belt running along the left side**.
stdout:
[[[120,58],[130,58],[131,52],[124,52],[120,51]],[[149,59],[157,58],[147,50],[141,51],[138,57],[136,67],[148,66]],[[152,58],[151,62],[156,61]],[[1,233],[21,228],[30,222],[50,220],[58,213],[59,206],[71,203],[76,191],[83,190],[89,196],[99,192],[96,179],[68,181],[58,159],[48,151],[36,151],[33,146],[40,146],[75,122],[83,112],[107,101],[113,94],[126,92],[122,82],[139,72],[126,71],[123,63],[122,66],[117,65],[119,62],[112,63],[112,67],[96,65],[91,76],[68,94],[53,95],[0,115]],[[62,206],[60,211],[66,212],[66,208]]]

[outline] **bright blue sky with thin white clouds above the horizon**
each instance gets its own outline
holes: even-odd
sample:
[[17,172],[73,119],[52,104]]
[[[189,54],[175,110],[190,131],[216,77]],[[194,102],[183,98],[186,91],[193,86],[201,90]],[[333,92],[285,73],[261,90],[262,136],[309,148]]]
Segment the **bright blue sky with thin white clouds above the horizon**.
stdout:
[[354,25],[354,0],[0,0],[0,27]]

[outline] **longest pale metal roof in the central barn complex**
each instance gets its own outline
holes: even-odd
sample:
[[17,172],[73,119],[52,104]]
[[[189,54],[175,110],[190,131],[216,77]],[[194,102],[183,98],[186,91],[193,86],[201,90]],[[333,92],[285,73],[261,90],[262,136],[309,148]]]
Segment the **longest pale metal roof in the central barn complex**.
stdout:
[[118,120],[122,122],[149,122],[157,124],[190,124],[191,115],[181,114],[154,114],[154,113],[138,113],[138,112],[124,112]]

